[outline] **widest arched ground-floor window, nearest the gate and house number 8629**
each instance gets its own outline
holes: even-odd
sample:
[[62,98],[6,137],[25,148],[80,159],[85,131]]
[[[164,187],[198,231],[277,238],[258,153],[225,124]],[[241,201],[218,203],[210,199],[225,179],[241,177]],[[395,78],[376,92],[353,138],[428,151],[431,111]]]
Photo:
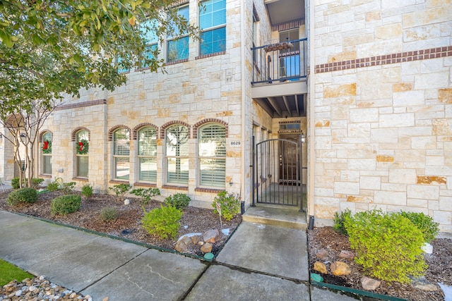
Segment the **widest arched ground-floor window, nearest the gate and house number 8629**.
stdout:
[[199,185],[225,187],[226,129],[218,123],[208,123],[199,128]]

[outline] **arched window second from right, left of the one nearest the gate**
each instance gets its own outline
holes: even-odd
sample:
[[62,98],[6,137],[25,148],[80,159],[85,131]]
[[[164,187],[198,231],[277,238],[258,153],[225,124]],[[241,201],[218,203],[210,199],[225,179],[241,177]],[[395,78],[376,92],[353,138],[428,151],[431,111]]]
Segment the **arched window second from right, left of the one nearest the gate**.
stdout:
[[189,129],[172,125],[166,131],[167,183],[189,184]]

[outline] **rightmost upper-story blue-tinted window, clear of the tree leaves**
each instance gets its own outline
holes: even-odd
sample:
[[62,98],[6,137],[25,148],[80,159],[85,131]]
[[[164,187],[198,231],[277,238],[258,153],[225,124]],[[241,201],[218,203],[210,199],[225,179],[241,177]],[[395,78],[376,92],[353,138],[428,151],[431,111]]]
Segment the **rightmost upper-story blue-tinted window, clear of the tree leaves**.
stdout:
[[203,1],[200,6],[201,56],[226,49],[226,0]]

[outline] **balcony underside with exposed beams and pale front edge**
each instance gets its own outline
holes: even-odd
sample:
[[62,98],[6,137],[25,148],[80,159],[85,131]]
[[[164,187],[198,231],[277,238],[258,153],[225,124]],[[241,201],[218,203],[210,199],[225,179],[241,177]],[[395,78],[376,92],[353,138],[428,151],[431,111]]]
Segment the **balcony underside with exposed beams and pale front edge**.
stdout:
[[279,82],[251,88],[251,97],[272,118],[302,117],[307,110],[307,82]]

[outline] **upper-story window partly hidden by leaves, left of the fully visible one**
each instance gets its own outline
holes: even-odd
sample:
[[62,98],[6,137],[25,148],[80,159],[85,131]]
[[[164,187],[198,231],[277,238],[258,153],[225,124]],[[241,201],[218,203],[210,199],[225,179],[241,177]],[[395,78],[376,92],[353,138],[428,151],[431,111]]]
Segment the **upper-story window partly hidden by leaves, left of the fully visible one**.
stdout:
[[[177,14],[189,21],[189,6],[181,6],[177,9]],[[169,27],[172,32],[167,36],[167,61],[179,61],[189,58],[189,36],[186,32],[180,32],[179,28],[174,25],[171,20],[168,20]]]

